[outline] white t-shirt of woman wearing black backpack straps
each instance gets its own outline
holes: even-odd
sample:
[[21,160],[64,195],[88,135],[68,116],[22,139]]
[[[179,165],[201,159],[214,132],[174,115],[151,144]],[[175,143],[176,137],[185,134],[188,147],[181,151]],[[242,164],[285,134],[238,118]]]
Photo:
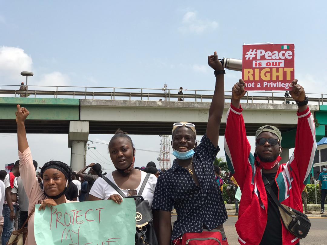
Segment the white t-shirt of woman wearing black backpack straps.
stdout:
[[[141,171],[141,170],[138,170]],[[115,180],[112,177],[112,173],[108,173],[105,175],[109,180],[112,181],[113,184],[118,186],[115,182]],[[140,185],[136,188],[137,195],[139,194],[140,188],[142,186],[142,183],[146,177],[146,172],[141,171],[141,182]],[[151,207],[152,205],[152,199],[153,199],[153,194],[154,194],[154,189],[156,188],[157,184],[157,177],[154,174],[151,174],[149,176],[149,179],[147,180],[147,183],[145,185],[145,188],[143,190],[142,196],[145,200],[149,202],[149,205]],[[127,191],[125,189],[119,188],[125,196],[127,196]],[[104,179],[97,178],[97,180],[94,182],[91,190],[90,190],[90,195],[95,196],[97,198],[101,198],[103,200],[107,200],[112,194],[119,194],[117,191],[115,191],[114,188],[112,188]]]

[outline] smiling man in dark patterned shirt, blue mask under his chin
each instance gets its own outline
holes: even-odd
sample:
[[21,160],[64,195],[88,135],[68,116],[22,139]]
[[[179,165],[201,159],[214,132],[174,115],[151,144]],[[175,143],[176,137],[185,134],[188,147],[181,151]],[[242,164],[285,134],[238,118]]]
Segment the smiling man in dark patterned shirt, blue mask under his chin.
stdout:
[[[157,211],[154,214],[157,214],[160,221],[157,231],[160,245],[170,245],[172,241],[173,244],[181,244],[181,236],[204,235],[220,235],[224,239],[223,244],[228,244],[223,228],[227,212],[215,181],[213,165],[219,151],[225,71],[216,52],[208,57],[208,63],[215,70],[216,81],[206,134],[197,146],[195,125],[174,123],[171,144],[176,159],[173,166],[158,178],[155,189],[152,209]],[[178,217],[172,231],[173,206]]]

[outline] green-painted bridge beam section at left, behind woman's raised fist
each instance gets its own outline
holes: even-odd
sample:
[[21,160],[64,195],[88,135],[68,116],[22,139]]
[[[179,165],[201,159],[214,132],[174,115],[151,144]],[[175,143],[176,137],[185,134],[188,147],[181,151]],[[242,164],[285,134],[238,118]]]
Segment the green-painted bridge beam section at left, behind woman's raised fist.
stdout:
[[17,104],[31,115],[27,120],[79,120],[79,99],[0,97],[0,119],[15,119]]

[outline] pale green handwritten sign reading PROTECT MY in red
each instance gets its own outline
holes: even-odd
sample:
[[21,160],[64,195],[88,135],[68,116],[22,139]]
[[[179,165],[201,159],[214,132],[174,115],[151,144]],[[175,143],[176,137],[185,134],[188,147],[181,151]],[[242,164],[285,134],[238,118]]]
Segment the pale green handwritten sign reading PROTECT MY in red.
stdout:
[[38,245],[129,245],[135,242],[135,201],[124,199],[35,205],[34,234]]

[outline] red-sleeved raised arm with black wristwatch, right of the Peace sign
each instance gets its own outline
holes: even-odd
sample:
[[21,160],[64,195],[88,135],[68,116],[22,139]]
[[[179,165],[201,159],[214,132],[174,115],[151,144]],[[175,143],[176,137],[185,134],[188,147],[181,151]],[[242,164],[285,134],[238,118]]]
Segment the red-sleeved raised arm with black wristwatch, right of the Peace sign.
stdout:
[[295,149],[288,164],[292,171],[299,178],[298,181],[304,188],[306,181],[310,178],[310,172],[313,168],[313,160],[317,149],[316,127],[313,115],[307,105],[305,91],[295,79],[292,84],[293,88],[290,95],[297,102],[298,110],[298,127],[295,138]]

